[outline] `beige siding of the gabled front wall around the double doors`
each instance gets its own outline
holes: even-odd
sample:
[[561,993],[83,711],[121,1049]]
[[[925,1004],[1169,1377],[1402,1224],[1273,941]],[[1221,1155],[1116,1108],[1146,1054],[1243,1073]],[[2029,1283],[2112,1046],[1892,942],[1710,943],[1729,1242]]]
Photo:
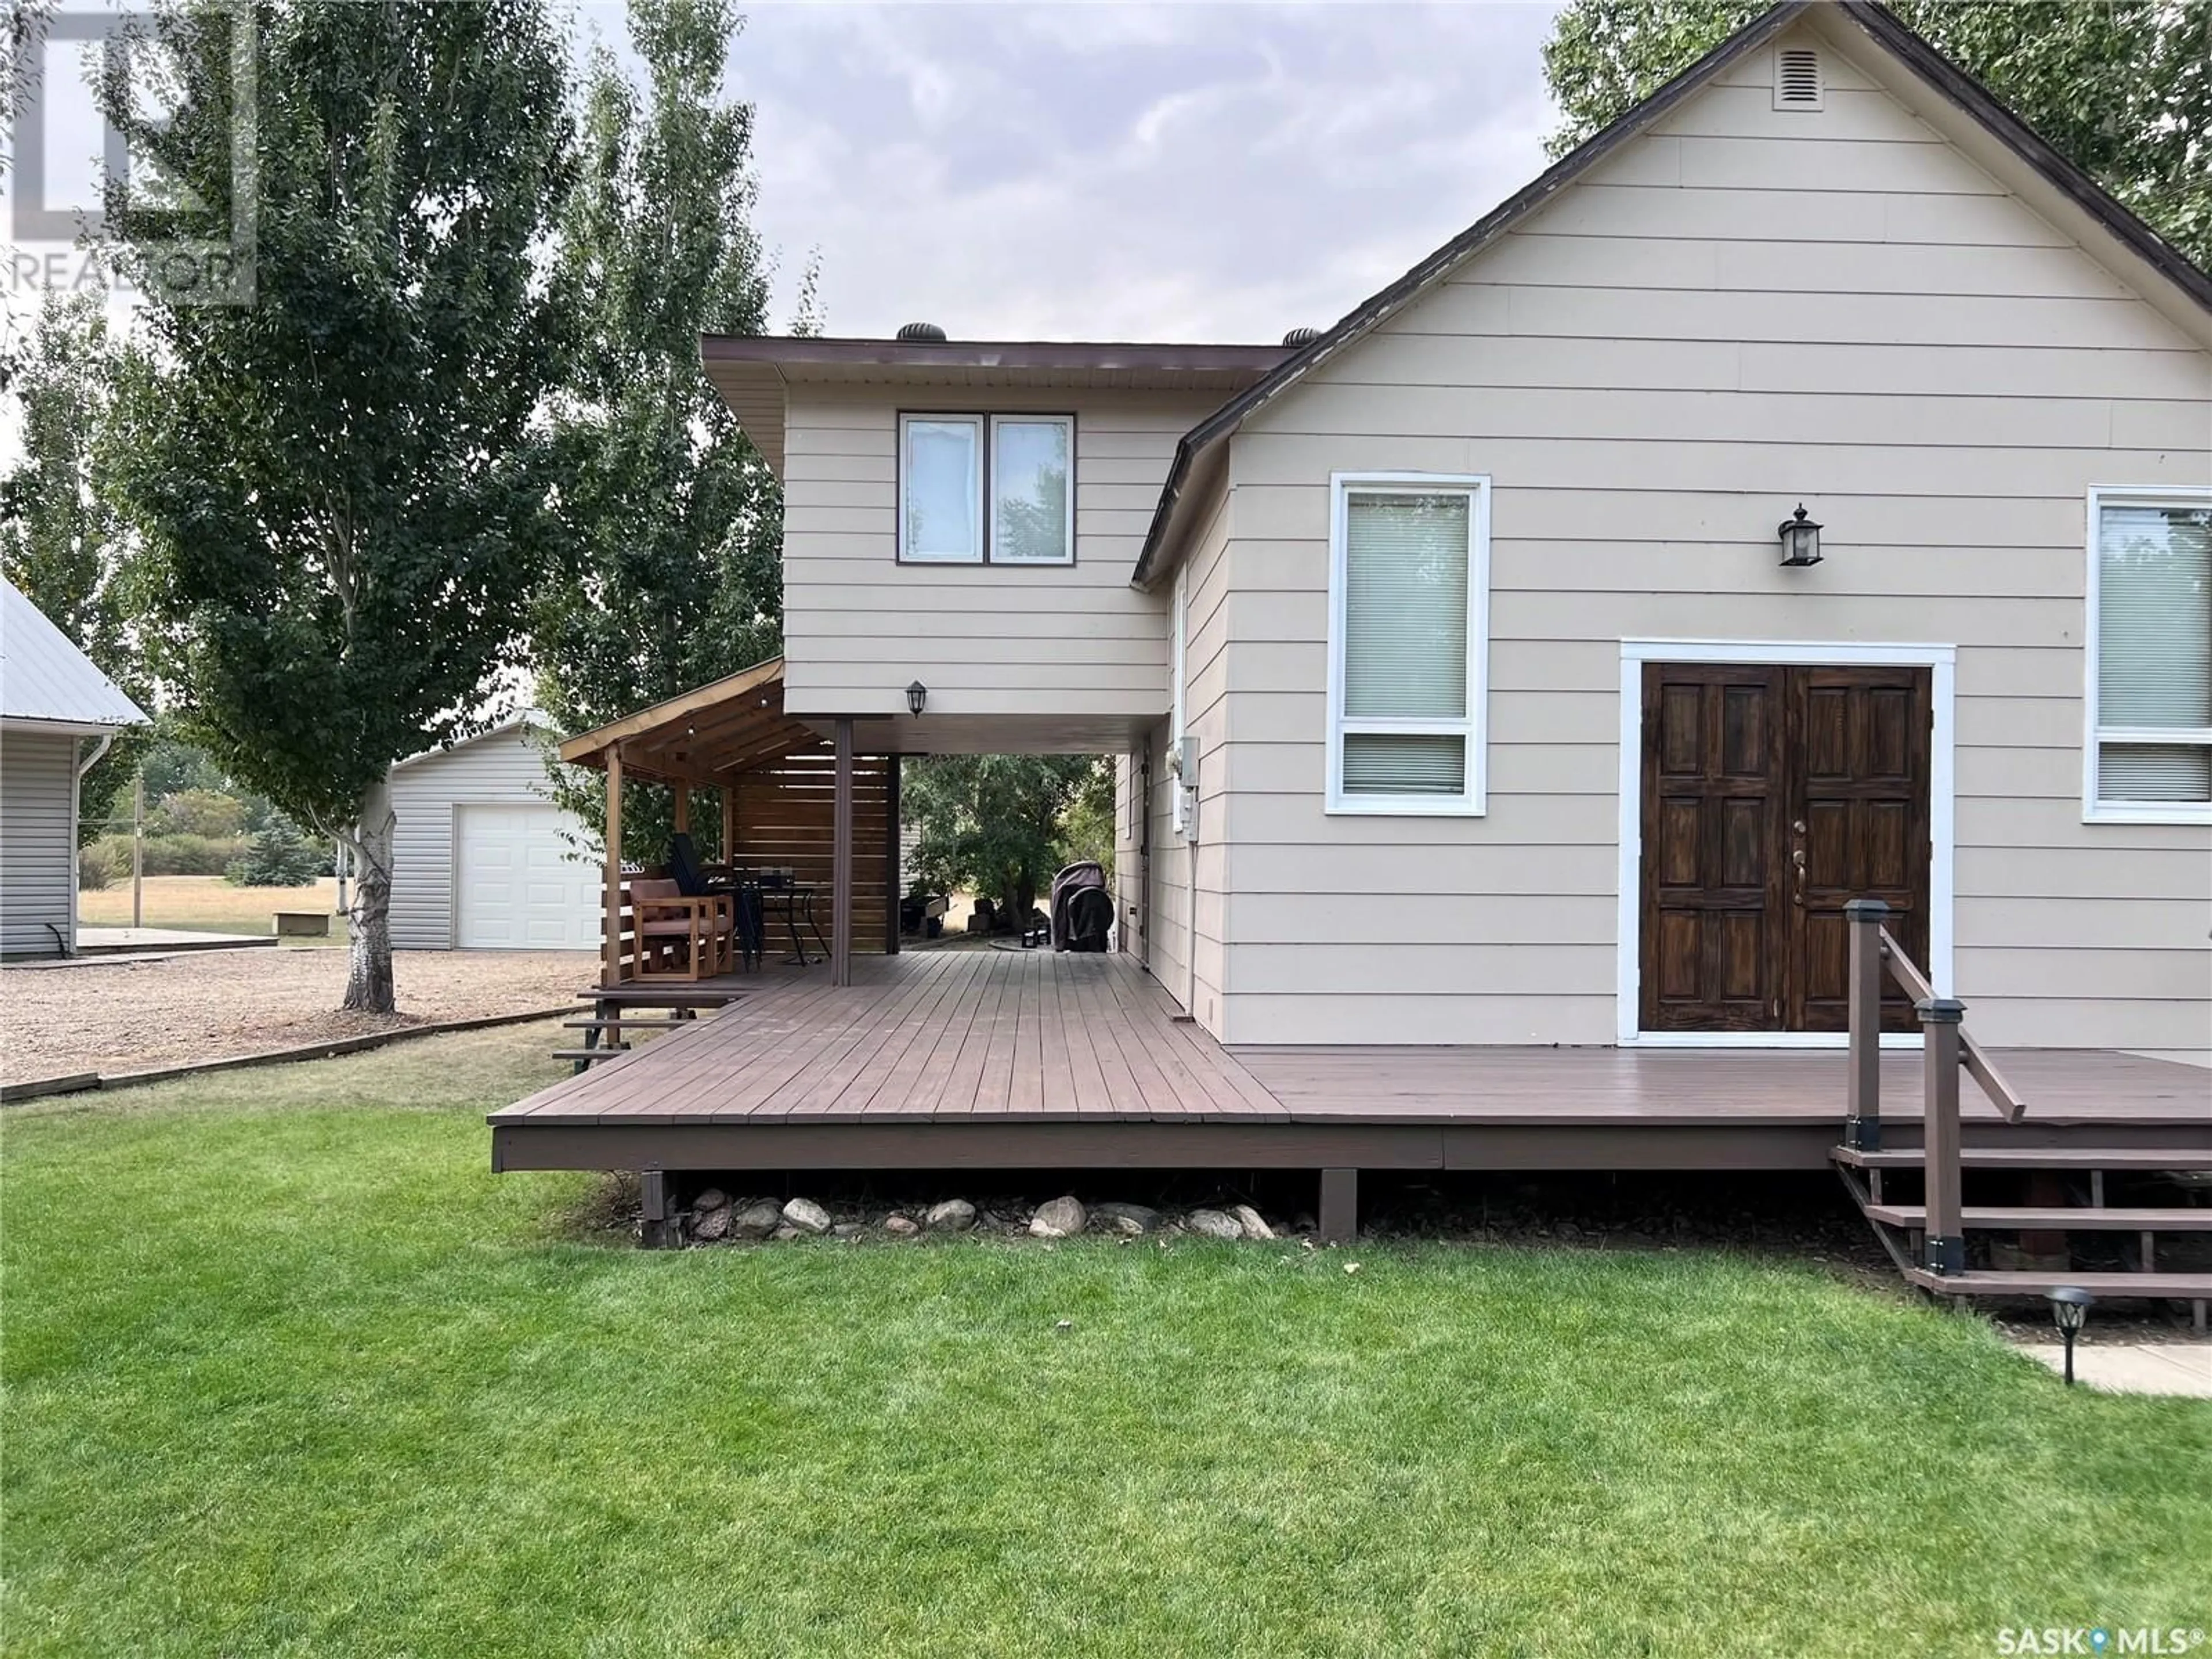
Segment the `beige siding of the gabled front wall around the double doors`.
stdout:
[[[2212,832],[2079,799],[2084,493],[2212,482],[2212,363],[1827,62],[1818,115],[1739,64],[1234,438],[1225,1040],[1613,1042],[1619,641],[1694,637],[1955,644],[1975,1033],[2212,1048]],[[1323,812],[1365,469],[1493,480],[1484,818]]]

